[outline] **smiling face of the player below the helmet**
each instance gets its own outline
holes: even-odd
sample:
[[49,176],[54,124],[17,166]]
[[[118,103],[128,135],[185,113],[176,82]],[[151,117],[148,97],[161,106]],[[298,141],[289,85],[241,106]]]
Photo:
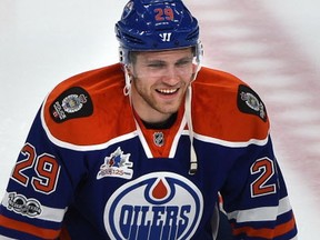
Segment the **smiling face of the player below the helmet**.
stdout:
[[160,52],[136,52],[129,67],[131,99],[138,116],[161,122],[181,106],[196,68],[192,48]]

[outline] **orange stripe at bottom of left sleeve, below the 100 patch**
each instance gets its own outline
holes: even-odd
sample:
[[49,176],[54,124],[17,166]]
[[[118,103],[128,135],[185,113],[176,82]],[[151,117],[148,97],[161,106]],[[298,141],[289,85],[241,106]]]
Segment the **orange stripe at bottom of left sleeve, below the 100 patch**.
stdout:
[[20,232],[26,232],[41,239],[57,239],[60,230],[39,228],[26,222],[20,222],[4,216],[0,216],[0,224],[4,228],[13,229]]

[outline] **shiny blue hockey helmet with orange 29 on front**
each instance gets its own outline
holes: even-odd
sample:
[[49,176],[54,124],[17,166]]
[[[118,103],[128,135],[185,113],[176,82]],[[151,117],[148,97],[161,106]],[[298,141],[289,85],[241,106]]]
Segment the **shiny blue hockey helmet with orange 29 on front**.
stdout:
[[198,21],[181,0],[130,0],[116,23],[120,61],[128,51],[198,47]]

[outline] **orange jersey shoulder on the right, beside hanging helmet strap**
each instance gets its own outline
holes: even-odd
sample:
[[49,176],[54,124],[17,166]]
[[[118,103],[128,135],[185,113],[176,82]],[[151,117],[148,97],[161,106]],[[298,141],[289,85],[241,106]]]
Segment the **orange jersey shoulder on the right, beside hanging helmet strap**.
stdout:
[[266,106],[239,78],[202,68],[192,89],[192,116],[198,133],[227,141],[268,137],[270,123]]

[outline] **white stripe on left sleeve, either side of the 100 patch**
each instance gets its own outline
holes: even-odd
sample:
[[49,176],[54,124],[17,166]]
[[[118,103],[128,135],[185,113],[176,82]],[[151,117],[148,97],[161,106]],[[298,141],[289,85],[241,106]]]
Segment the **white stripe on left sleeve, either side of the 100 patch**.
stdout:
[[[2,206],[8,209],[9,202],[9,193],[6,192],[4,198],[2,200]],[[57,208],[49,208],[46,206],[41,206],[41,214],[37,217],[37,219],[52,221],[52,222],[61,222],[63,216],[68,208],[66,209],[57,209]]]

